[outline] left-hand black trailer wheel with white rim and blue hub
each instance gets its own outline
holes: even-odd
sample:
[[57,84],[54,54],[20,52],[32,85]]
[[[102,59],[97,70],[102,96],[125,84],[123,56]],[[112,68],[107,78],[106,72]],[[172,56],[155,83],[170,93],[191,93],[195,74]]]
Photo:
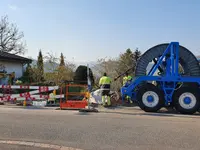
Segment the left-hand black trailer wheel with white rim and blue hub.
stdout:
[[157,112],[164,106],[164,93],[153,84],[146,83],[137,93],[139,107],[146,112]]

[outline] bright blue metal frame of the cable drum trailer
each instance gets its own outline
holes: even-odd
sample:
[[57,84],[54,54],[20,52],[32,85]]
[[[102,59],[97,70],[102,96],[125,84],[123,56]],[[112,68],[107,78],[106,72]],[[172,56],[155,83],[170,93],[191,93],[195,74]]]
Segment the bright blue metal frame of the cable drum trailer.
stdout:
[[[166,66],[162,76],[153,76],[157,69],[160,70],[161,65]],[[179,42],[171,42],[157,63],[150,69],[147,76],[136,77],[129,85],[121,88],[122,102],[125,95],[128,95],[134,100],[137,92],[134,90],[139,84],[147,81],[157,81],[161,85],[161,90],[165,94],[165,104],[172,102],[172,96],[176,85],[179,82],[198,83],[200,85],[200,77],[182,77],[179,74]],[[136,100],[137,101],[137,100]]]

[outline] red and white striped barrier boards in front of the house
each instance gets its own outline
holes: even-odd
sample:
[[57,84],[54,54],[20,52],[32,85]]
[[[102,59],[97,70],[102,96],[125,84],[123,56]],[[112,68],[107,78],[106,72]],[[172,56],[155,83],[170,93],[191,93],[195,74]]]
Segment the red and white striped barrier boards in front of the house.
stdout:
[[[0,85],[0,89],[4,89],[4,90],[12,90],[12,89],[32,90],[29,92],[18,93],[18,94],[0,93],[0,101],[25,100],[25,99],[31,99],[31,100],[48,99],[49,94],[47,92],[57,90],[58,88],[59,88],[58,86]],[[64,97],[64,95],[55,95],[55,98],[62,98],[62,97]]]

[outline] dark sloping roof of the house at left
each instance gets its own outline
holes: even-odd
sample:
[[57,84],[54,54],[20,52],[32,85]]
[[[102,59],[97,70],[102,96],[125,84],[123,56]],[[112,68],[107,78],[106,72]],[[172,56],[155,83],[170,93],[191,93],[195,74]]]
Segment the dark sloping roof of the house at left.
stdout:
[[15,55],[15,54],[10,54],[10,53],[7,53],[7,52],[0,52],[0,60],[3,59],[3,60],[14,60],[14,61],[20,61],[22,63],[31,63],[32,60],[29,59],[29,58],[25,58],[25,57],[22,57],[22,56],[18,56],[18,55]]

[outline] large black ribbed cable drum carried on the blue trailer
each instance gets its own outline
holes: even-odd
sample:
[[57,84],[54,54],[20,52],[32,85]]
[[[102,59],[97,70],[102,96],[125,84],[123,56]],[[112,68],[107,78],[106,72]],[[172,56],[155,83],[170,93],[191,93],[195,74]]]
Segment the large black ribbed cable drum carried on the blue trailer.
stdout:
[[[162,56],[169,44],[159,44],[147,50],[137,61],[135,76],[145,76],[147,66],[154,58]],[[200,66],[192,52],[179,46],[179,63],[183,67],[184,76],[200,76]]]

